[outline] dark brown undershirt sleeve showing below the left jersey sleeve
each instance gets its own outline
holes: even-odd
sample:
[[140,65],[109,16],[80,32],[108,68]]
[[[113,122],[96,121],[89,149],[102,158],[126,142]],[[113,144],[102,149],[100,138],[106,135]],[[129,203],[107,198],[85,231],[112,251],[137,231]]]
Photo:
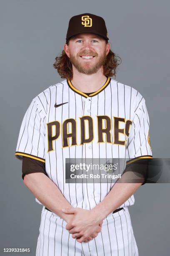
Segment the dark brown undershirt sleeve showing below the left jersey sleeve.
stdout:
[[23,179],[25,174],[30,174],[34,172],[42,172],[47,175],[47,172],[45,171],[45,163],[27,156],[23,156],[22,172]]

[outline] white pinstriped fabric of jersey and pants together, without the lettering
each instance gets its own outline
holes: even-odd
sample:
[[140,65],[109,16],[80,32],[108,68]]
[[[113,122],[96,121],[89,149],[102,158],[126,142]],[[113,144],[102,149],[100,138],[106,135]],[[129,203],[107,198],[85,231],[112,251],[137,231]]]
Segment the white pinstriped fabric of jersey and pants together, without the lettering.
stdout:
[[[61,104],[55,108],[55,103]],[[98,143],[97,116],[110,117],[112,143],[107,143],[104,133],[104,143]],[[80,118],[89,116],[93,120],[94,139],[90,143],[80,145]],[[130,134],[120,134],[120,140],[125,140],[126,145],[114,143],[115,117],[131,120]],[[62,123],[72,118],[77,125],[77,145],[62,147]],[[60,136],[53,141],[53,149],[47,152],[47,123],[57,120],[60,122]],[[106,120],[103,122],[106,128]],[[120,123],[120,128],[125,129],[125,123]],[[72,131],[68,123],[68,132]],[[85,131],[86,133],[88,132]],[[99,93],[85,97],[69,87],[67,80],[51,85],[37,95],[25,112],[18,143],[16,157],[22,159],[37,157],[45,161],[48,177],[57,185],[61,193],[73,207],[92,209],[101,202],[114,186],[113,182],[107,183],[65,183],[65,158],[85,159],[134,159],[139,156],[152,156],[148,143],[149,116],[143,96],[133,87],[110,79],[108,84]],[[71,139],[69,138],[69,144]],[[125,161],[126,164],[126,161]],[[41,204],[37,198],[36,202]],[[102,230],[96,238],[89,243],[78,243],[65,229],[65,221],[54,213],[42,208],[40,233],[37,239],[36,256],[53,255],[118,255],[138,256],[131,225],[128,206],[133,205],[135,198],[132,195],[118,208],[123,210],[108,215],[105,218]]]

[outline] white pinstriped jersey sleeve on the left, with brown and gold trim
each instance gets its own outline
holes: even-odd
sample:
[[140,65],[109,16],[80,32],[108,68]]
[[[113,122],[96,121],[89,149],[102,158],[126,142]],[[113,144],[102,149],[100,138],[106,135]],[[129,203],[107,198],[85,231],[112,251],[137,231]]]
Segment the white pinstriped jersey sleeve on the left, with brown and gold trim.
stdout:
[[21,123],[15,156],[20,160],[27,156],[45,163],[45,115],[36,97]]

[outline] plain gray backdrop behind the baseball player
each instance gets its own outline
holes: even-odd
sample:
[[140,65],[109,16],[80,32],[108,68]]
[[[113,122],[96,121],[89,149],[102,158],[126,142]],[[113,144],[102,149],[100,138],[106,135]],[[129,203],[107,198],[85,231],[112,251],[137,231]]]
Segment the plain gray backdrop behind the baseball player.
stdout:
[[[153,156],[168,158],[170,2],[1,0],[0,5],[0,255],[2,248],[25,247],[33,256],[42,206],[23,184],[22,162],[14,153],[32,98],[62,80],[52,64],[63,49],[68,21],[85,12],[105,19],[111,48],[122,58],[116,79],[145,98]],[[170,184],[145,184],[135,192],[129,210],[140,256],[169,255],[169,195]]]

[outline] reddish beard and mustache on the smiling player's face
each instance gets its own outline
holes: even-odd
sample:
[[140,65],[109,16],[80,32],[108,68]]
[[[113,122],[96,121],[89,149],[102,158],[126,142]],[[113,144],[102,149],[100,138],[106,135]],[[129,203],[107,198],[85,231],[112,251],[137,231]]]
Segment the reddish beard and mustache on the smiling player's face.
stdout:
[[70,62],[72,63],[72,65],[75,66],[75,68],[78,70],[78,72],[83,73],[83,74],[94,74],[96,73],[100,67],[102,67],[105,62],[106,62],[106,58],[107,55],[105,54],[105,52],[100,56],[100,58],[95,61],[94,64],[88,63],[88,62],[84,62],[84,64],[82,63],[82,61],[80,60],[80,56],[84,56],[84,55],[88,55],[89,56],[95,56],[95,58],[98,57],[98,54],[94,54],[94,53],[82,53],[82,54],[77,54],[77,56],[75,57],[74,55],[70,54]]

